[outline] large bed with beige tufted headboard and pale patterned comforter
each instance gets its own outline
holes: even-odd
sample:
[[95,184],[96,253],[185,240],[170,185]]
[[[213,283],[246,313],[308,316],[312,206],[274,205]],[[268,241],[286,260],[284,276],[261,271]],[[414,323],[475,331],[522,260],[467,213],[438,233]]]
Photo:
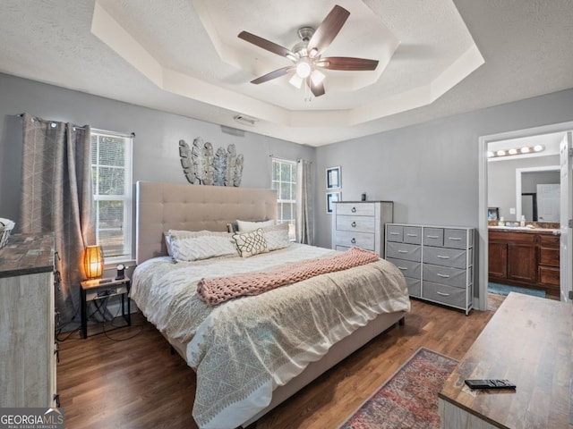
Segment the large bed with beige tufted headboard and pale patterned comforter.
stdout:
[[[250,425],[409,311],[404,277],[383,259],[209,305],[205,279],[275,273],[344,254],[292,243],[252,257],[174,262],[168,231],[175,239],[177,231],[217,235],[237,219],[275,220],[275,191],[139,181],[136,194],[131,296],[197,373],[192,414],[201,428]],[[250,233],[267,230],[274,233]]]

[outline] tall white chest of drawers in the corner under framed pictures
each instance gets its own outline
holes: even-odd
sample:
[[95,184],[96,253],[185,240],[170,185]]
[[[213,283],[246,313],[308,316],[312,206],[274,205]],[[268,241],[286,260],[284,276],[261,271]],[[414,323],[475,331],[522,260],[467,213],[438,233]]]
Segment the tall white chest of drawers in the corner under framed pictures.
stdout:
[[384,257],[384,225],[393,222],[392,201],[338,201],[333,204],[332,248],[365,248]]

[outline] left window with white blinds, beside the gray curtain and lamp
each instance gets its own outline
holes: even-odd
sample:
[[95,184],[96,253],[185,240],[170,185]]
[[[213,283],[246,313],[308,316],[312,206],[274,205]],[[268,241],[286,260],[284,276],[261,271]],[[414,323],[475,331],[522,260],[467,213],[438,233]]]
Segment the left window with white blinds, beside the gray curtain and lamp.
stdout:
[[132,259],[133,136],[91,130],[96,237],[107,262]]

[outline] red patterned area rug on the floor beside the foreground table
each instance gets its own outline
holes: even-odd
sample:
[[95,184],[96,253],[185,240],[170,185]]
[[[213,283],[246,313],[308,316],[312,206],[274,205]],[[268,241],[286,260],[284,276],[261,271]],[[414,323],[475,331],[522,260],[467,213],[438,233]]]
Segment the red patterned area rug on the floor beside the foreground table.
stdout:
[[420,348],[339,429],[440,428],[438,392],[458,365]]

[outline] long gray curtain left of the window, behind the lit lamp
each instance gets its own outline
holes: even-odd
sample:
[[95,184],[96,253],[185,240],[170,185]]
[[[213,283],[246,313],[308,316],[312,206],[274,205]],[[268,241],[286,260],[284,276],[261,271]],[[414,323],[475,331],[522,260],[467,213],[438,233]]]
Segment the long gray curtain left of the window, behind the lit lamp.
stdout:
[[54,233],[56,309],[64,331],[73,331],[80,324],[83,249],[96,242],[90,126],[23,114],[21,174],[20,231]]

